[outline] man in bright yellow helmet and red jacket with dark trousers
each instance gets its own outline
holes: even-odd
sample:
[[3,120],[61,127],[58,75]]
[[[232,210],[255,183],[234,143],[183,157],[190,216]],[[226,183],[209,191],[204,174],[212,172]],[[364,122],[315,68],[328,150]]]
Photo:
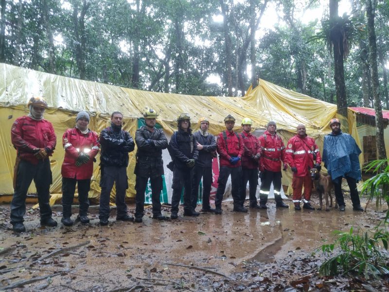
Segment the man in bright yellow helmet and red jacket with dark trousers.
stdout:
[[250,208],[260,209],[257,203],[258,162],[261,157],[261,147],[257,137],[251,135],[252,121],[249,118],[242,120],[242,141],[245,153],[242,156],[242,198],[246,198],[246,187],[249,185]]

